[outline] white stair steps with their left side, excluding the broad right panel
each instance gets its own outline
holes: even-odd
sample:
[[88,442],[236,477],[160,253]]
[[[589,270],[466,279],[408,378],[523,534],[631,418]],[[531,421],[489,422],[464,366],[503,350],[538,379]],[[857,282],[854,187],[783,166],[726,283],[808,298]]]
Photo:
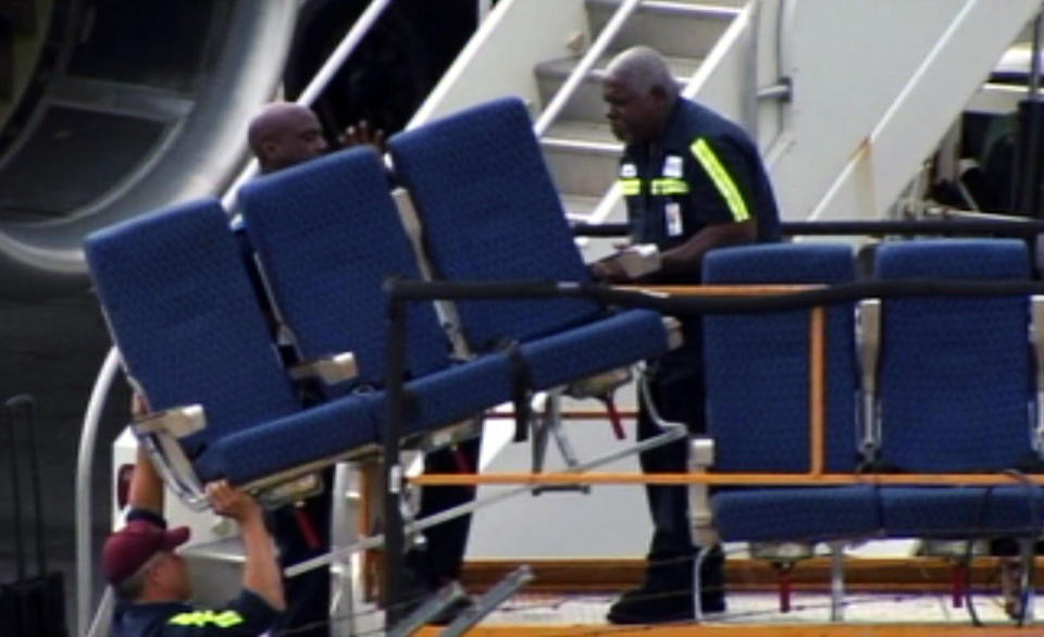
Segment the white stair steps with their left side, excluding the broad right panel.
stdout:
[[[500,2],[410,126],[506,95],[526,100],[536,118],[622,4],[622,0]],[[623,24],[540,139],[571,216],[586,218],[616,180],[623,147],[609,129],[601,100],[609,60],[635,45],[654,47],[667,57],[679,85],[685,86],[744,4],[646,0]]]

